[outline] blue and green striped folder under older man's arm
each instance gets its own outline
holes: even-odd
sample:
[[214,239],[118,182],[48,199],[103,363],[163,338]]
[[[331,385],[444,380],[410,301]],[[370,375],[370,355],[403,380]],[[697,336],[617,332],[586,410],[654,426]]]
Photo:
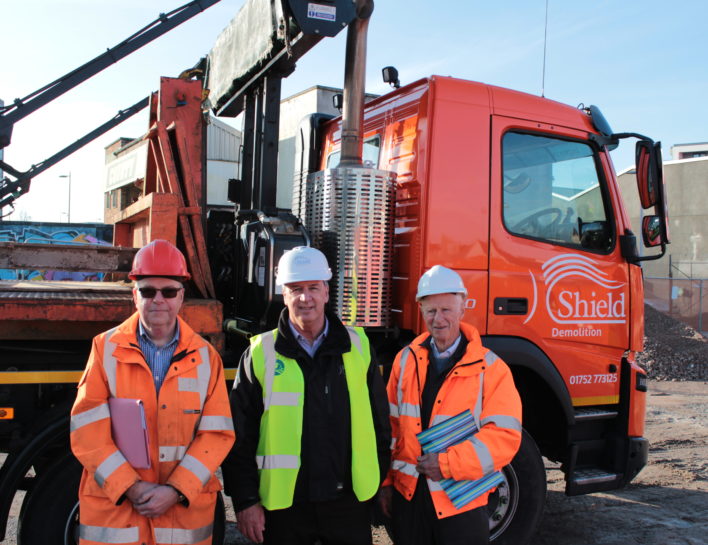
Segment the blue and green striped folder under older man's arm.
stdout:
[[[475,433],[477,433],[477,425],[474,423],[472,412],[467,409],[457,416],[448,418],[445,422],[440,422],[440,424],[420,432],[417,437],[423,452],[427,454],[428,452],[444,452],[448,447],[466,441]],[[487,490],[498,486],[503,480],[504,476],[501,471],[495,471],[476,481],[443,479],[440,481],[440,486],[455,508],[459,509]]]

